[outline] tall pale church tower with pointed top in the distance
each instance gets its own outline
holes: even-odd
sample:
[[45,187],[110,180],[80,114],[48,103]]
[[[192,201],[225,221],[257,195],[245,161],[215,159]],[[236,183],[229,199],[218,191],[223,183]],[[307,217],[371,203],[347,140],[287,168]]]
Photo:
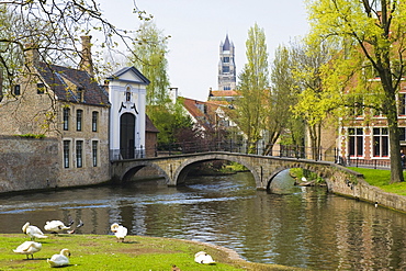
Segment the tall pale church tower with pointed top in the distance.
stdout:
[[228,41],[219,44],[218,90],[236,89],[236,64],[234,61],[234,44]]

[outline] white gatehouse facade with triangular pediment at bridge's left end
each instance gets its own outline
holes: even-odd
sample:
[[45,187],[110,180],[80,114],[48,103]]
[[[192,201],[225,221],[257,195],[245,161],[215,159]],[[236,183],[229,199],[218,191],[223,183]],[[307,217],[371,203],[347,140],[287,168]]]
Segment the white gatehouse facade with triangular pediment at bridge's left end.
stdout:
[[149,80],[134,67],[121,69],[108,80],[110,159],[144,157],[146,87]]

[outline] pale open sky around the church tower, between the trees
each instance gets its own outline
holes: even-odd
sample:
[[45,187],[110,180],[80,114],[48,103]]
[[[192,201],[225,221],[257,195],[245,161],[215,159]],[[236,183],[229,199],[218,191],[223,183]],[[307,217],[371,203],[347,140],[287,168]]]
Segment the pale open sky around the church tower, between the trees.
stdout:
[[[248,31],[257,23],[267,37],[269,64],[279,45],[308,32],[304,0],[99,0],[104,16],[120,29],[136,30],[134,4],[154,15],[168,41],[170,87],[180,95],[206,101],[217,90],[219,44],[235,46],[237,77],[246,64]],[[238,79],[237,79],[238,80]]]

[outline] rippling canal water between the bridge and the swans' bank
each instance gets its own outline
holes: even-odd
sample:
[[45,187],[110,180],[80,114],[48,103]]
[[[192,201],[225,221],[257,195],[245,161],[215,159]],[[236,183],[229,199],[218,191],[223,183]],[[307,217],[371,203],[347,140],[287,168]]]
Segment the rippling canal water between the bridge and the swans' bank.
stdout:
[[84,223],[77,234],[111,234],[117,222],[132,235],[219,245],[253,262],[406,270],[405,214],[294,187],[287,171],[272,182],[272,193],[257,191],[250,173],[237,173],[191,177],[177,188],[149,181],[0,196],[0,233],[69,217]]

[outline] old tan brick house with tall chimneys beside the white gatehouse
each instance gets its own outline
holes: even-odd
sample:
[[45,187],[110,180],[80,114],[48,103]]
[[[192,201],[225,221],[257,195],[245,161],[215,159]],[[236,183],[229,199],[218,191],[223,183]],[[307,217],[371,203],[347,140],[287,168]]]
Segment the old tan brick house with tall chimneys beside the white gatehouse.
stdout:
[[[90,37],[82,37],[82,46],[83,60],[79,69],[41,61],[37,49],[27,50],[24,71],[11,89],[3,90],[0,134],[53,139],[44,140],[49,146],[42,144],[35,149],[42,149],[42,156],[50,155],[54,159],[44,157],[29,163],[16,160],[16,165],[21,162],[20,172],[5,167],[9,172],[0,176],[1,181],[29,183],[12,190],[75,187],[110,179],[110,161],[106,159],[109,97],[93,79],[91,58],[87,59],[90,57]],[[4,140],[18,144],[12,138]],[[30,146],[26,142],[24,144]],[[37,145],[34,140],[32,144]],[[14,153],[8,150],[8,157],[24,151],[35,150],[16,147]],[[52,163],[46,166],[53,172],[36,174],[36,168],[44,167],[44,163]],[[23,171],[24,174],[21,173]]]

